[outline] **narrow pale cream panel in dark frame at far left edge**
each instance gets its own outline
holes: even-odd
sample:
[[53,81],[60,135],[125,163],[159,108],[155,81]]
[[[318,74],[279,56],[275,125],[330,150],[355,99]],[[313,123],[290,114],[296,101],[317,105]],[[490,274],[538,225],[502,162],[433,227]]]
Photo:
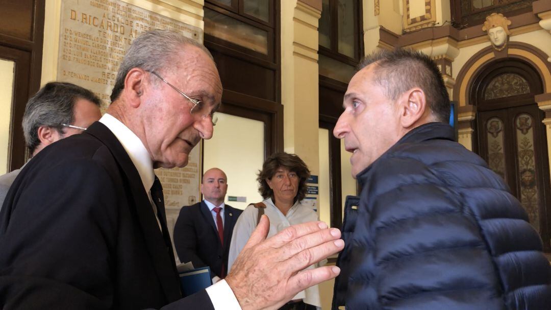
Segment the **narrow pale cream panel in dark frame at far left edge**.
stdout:
[[15,63],[0,58],[0,175],[8,172],[9,128],[12,119]]

